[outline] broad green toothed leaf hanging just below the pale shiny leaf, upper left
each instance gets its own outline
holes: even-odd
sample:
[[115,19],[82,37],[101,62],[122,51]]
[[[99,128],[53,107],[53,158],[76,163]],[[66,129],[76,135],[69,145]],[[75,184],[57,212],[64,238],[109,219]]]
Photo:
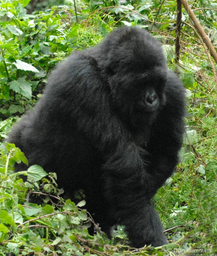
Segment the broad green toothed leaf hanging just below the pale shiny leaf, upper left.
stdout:
[[32,97],[32,88],[31,83],[27,82],[23,77],[18,78],[15,81],[9,83],[10,89],[13,91],[22,94],[22,96],[31,99]]

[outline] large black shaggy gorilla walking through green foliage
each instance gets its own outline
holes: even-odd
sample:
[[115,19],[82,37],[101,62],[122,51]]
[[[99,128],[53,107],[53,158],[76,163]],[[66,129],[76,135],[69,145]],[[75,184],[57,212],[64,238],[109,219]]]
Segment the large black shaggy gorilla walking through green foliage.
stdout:
[[184,116],[185,89],[160,43],[124,26],[59,64],[7,141],[70,196],[83,189],[102,231],[124,225],[131,246],[156,247],[167,240],[151,199],[179,162]]

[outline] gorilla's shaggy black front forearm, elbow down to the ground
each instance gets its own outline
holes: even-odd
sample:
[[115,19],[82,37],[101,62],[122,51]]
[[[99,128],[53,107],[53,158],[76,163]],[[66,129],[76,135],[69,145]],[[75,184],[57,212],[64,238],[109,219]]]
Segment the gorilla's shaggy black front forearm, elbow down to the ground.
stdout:
[[[110,216],[126,227],[131,246],[167,244],[157,211],[150,203],[159,176],[148,173],[145,150],[131,144],[104,165],[104,196]],[[167,165],[165,165],[167,166]]]

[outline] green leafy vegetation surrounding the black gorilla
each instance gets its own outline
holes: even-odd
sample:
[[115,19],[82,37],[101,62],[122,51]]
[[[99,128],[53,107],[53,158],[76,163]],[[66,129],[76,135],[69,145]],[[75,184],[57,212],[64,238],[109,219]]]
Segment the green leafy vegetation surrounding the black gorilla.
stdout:
[[[127,245],[122,227],[109,240],[83,209],[83,191],[75,195],[77,205],[62,199],[63,191],[57,187],[55,173],[46,176],[38,166],[22,172],[28,175],[24,182],[13,170],[15,162],[27,163],[27,159],[15,145],[2,143],[0,255],[217,254],[217,65],[201,31],[195,29],[196,23],[191,22],[182,7],[177,58],[175,0],[59,3],[64,5],[27,14],[25,8],[31,9],[29,0],[0,1],[1,138],[34,106],[47,75],[58,61],[74,50],[95,45],[116,26],[138,25],[148,29],[164,46],[169,68],[179,74],[187,88],[188,116],[181,163],[155,197],[171,243],[162,248],[133,249]],[[44,4],[38,2],[36,9]],[[188,1],[188,4],[216,50],[216,1]],[[27,201],[38,194],[43,204]],[[94,236],[87,231],[90,222],[98,231]]]

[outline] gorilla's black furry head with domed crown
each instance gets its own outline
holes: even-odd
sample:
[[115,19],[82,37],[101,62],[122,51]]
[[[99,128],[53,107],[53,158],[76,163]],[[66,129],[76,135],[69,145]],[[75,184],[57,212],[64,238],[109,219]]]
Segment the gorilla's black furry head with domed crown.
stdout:
[[160,43],[145,30],[121,27],[110,33],[99,47],[103,52],[99,67],[119,111],[127,111],[128,116],[129,111],[156,116],[165,102],[167,80]]

